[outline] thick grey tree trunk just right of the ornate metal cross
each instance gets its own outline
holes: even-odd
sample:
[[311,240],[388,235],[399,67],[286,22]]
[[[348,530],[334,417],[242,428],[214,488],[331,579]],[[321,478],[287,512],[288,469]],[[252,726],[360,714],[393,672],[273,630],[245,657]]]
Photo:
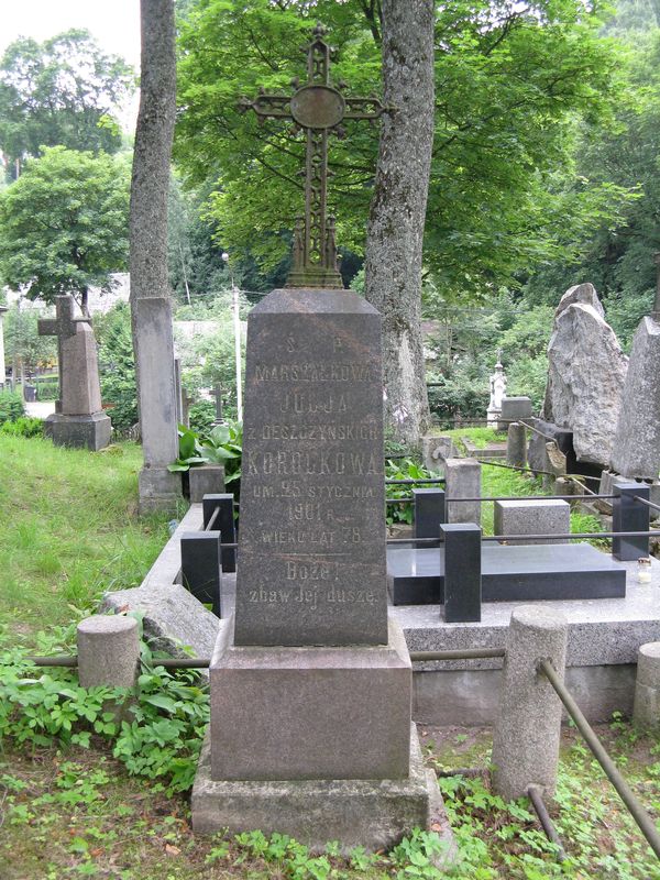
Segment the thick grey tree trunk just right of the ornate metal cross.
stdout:
[[417,446],[429,404],[421,255],[433,145],[433,0],[383,0],[383,119],[366,238],[366,298],[383,315],[386,424]]

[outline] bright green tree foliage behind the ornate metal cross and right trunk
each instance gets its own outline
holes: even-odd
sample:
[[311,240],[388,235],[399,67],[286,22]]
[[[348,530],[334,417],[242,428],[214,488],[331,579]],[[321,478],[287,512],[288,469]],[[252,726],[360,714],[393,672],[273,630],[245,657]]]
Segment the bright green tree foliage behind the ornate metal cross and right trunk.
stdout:
[[[334,80],[380,89],[380,4],[190,0],[179,40],[175,157],[189,184],[213,179],[210,215],[226,246],[266,266],[288,249],[301,204],[304,141],[282,121],[240,116],[241,95],[289,92],[320,19]],[[578,0],[453,0],[436,11],[436,134],[425,265],[447,295],[481,297],[521,271],[572,256],[625,201],[609,180],[566,187],[579,120],[605,124],[622,72],[602,20]],[[364,249],[377,130],[352,123],[330,150],[338,241]],[[284,234],[283,234],[284,233]]]

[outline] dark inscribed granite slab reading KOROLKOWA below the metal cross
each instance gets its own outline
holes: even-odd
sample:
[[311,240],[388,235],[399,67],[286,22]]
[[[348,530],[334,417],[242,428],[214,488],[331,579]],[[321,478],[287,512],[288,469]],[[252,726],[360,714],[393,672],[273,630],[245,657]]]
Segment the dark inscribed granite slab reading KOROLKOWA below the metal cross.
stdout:
[[235,645],[387,642],[381,317],[349,290],[250,315]]

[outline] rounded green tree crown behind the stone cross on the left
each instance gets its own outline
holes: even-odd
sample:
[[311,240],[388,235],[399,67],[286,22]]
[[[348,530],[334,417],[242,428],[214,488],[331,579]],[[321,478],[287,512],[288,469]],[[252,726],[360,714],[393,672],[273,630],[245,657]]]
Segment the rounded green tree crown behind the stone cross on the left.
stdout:
[[124,158],[53,146],[0,194],[0,278],[30,299],[112,288],[128,258]]

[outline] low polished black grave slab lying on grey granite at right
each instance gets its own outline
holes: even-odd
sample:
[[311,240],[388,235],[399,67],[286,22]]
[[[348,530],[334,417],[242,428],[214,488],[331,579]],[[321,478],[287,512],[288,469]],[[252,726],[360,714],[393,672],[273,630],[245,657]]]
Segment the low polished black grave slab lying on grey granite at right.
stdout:
[[[444,602],[443,548],[387,548],[387,582],[394,605]],[[619,598],[626,569],[588,543],[482,544],[482,601]]]

